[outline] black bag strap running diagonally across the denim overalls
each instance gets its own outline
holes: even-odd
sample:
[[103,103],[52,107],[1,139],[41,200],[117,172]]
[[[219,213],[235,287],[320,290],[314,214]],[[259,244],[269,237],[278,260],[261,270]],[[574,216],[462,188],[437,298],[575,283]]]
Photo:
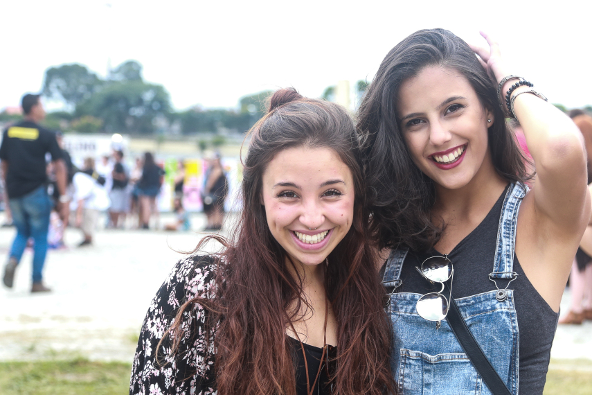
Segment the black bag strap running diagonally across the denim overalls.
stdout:
[[[446,285],[448,290],[448,284]],[[485,353],[475,340],[475,337],[469,330],[465,319],[463,316],[460,315],[460,311],[458,311],[458,306],[456,306],[456,301],[454,301],[454,297],[450,297],[450,308],[448,311],[448,324],[456,339],[460,343],[460,346],[463,347],[465,353],[469,357],[469,360],[473,363],[473,366],[478,371],[478,374],[481,375],[483,381],[485,381],[485,385],[487,388],[490,389],[493,395],[512,395],[508,387],[505,386],[505,383],[497,374],[496,370],[492,366],[490,360],[487,359]]]

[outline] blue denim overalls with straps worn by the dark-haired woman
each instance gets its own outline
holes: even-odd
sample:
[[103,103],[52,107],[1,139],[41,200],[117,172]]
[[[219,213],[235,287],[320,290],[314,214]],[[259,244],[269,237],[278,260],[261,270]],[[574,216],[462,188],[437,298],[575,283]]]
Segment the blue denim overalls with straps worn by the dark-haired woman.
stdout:
[[[510,185],[505,195],[490,274],[492,290],[454,299],[485,356],[513,395],[518,394],[519,332],[514,293],[504,287],[516,275],[512,271],[516,223],[525,195],[526,191],[517,184]],[[456,340],[448,320],[444,319],[436,329],[436,322],[423,319],[415,309],[422,295],[395,292],[402,283],[399,278],[407,252],[391,252],[383,278],[384,286],[395,288],[387,308],[393,322],[392,370],[399,394],[491,394]]]

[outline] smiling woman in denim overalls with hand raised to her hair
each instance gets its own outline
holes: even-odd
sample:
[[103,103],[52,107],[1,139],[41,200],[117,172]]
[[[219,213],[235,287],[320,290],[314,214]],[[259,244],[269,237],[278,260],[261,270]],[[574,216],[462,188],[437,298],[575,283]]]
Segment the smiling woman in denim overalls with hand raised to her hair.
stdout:
[[[510,392],[542,394],[590,217],[580,132],[483,37],[489,49],[414,33],[360,107],[400,394],[491,394],[451,331],[450,297]],[[508,116],[535,162],[530,191]]]

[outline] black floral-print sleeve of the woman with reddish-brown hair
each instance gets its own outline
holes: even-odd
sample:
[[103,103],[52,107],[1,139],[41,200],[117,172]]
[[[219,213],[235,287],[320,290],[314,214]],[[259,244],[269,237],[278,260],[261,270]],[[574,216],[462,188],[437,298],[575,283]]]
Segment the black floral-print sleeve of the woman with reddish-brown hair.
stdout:
[[204,340],[208,312],[201,304],[194,304],[183,315],[185,331],[179,351],[170,356],[174,339],[167,336],[156,358],[156,346],[174,322],[179,306],[196,296],[215,296],[215,263],[210,256],[181,259],[152,299],[134,356],[130,395],[217,394],[213,349]]

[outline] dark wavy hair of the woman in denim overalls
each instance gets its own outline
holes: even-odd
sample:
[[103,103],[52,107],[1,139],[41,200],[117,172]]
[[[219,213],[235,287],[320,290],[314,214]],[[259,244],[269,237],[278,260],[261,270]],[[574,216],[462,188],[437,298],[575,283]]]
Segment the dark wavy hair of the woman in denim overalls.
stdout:
[[528,179],[526,160],[506,125],[497,87],[466,42],[444,29],[419,30],[386,55],[359,108],[357,130],[364,139],[372,211],[371,231],[379,247],[433,247],[443,226],[431,220],[433,181],[415,166],[397,119],[402,83],[425,67],[454,69],[467,78],[483,107],[494,113],[487,139],[496,172],[508,180]]

